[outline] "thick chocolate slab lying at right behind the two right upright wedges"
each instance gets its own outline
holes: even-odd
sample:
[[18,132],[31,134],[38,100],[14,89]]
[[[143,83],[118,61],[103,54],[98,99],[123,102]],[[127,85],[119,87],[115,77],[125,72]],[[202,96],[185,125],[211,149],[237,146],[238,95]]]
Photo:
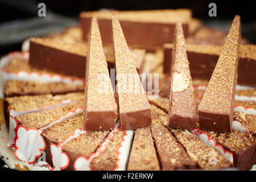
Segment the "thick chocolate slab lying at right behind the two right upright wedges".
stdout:
[[[170,73],[173,44],[164,44],[164,73]],[[192,78],[209,80],[220,56],[222,46],[186,44]],[[241,44],[238,63],[238,84],[256,85],[256,45]]]

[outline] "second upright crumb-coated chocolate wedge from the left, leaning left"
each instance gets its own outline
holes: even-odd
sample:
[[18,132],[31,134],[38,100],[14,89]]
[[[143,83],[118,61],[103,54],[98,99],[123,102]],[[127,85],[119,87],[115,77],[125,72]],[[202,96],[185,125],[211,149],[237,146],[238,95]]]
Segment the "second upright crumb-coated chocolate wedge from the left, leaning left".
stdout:
[[[150,104],[117,18],[112,19],[112,27],[121,129],[133,130],[150,126]],[[130,80],[133,81],[131,84]]]

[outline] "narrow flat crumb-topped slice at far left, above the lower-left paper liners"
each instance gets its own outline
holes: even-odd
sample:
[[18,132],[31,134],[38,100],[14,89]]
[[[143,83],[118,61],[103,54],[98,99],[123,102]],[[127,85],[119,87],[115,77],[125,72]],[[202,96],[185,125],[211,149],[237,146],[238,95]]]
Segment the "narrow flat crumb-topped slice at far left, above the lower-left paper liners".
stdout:
[[52,94],[43,94],[39,96],[7,97],[3,102],[6,126],[9,127],[9,116],[10,110],[12,109],[15,111],[31,110],[44,106],[60,104],[62,101],[65,100],[84,100],[84,93],[77,92],[56,96],[52,96]]

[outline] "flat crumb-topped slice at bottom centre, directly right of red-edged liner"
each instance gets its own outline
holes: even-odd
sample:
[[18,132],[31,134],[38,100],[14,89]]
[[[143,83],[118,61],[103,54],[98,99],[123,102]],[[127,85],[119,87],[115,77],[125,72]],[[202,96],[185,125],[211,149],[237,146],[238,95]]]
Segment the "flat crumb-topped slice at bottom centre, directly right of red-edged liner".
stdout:
[[135,131],[127,170],[160,170],[150,127]]

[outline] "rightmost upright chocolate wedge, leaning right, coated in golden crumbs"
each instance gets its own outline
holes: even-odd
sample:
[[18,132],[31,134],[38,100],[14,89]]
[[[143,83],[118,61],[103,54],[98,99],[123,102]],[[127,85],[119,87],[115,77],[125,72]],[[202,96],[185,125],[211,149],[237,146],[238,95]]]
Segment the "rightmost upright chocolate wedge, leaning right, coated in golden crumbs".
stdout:
[[201,129],[224,133],[231,132],[240,37],[240,16],[236,15],[199,105],[199,126]]

